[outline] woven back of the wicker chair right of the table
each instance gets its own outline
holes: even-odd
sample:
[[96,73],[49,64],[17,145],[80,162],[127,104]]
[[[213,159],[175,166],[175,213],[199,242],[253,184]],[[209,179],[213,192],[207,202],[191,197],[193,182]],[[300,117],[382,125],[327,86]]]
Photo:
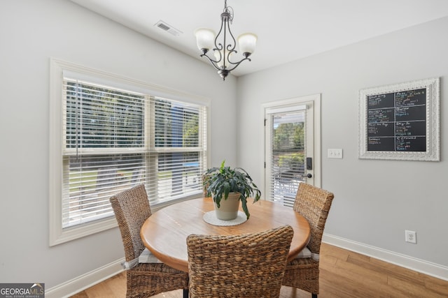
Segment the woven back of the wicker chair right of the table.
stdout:
[[332,193],[322,188],[306,183],[299,184],[293,209],[307,218],[311,230],[311,239],[307,247],[311,253],[319,253],[321,250],[323,228],[334,197]]

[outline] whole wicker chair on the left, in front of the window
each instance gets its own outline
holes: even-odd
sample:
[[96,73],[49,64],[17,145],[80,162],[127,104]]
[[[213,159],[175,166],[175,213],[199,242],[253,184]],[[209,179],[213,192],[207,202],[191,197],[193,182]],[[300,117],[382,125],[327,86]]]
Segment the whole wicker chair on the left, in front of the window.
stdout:
[[141,226],[151,216],[145,186],[139,184],[113,195],[110,201],[125,246],[126,297],[151,297],[178,289],[184,289],[183,297],[188,297],[188,273],[157,260],[141,241]]

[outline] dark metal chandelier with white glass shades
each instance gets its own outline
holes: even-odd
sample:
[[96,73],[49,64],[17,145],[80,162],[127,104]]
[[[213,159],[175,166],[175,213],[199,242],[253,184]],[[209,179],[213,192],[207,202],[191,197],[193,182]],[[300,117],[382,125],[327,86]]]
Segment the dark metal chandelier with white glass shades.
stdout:
[[[232,62],[231,58],[237,54],[235,47],[237,43],[235,37],[230,31],[230,24],[233,21],[233,8],[227,6],[227,0],[224,1],[224,10],[221,13],[221,29],[215,37],[215,32],[211,29],[200,28],[195,31],[197,47],[202,52],[201,57],[209,59],[210,63],[223,80],[228,76],[230,71],[234,70],[242,61],[251,61],[248,57],[255,50],[257,36],[253,33],[243,33],[238,37],[239,51],[243,54],[240,61]],[[214,58],[209,56],[210,49],[213,49]]]

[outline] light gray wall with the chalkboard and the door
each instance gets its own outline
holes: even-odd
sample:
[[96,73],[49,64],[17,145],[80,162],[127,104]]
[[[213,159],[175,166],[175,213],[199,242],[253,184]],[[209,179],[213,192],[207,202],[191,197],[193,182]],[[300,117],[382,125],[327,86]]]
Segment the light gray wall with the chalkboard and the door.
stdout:
[[[263,152],[254,150],[262,103],[321,94],[321,186],[335,193],[325,233],[446,268],[447,31],[444,17],[239,77],[239,166],[262,180]],[[442,161],[358,159],[358,90],[430,77],[441,77]],[[328,159],[328,148],[344,149],[344,158]],[[417,244],[405,243],[405,230],[417,232]]]

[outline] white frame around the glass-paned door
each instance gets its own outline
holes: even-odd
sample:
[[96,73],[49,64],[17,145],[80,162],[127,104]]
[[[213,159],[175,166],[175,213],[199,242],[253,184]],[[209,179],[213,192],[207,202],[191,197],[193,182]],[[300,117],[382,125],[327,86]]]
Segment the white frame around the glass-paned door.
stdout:
[[288,105],[300,105],[303,103],[312,102],[313,103],[313,131],[314,131],[314,137],[313,137],[313,154],[314,154],[314,161],[313,161],[313,170],[314,170],[314,186],[321,187],[321,94],[311,94],[308,96],[297,96],[294,98],[288,98],[283,100],[274,100],[268,103],[263,103],[261,106],[261,114],[263,119],[263,125],[262,125],[262,131],[261,131],[261,142],[260,146],[263,149],[262,154],[262,161],[260,163],[261,165],[261,172],[262,174],[262,185],[261,189],[266,191],[266,179],[267,179],[267,173],[266,173],[266,133],[265,133],[265,110],[267,108],[272,107],[287,107]]

